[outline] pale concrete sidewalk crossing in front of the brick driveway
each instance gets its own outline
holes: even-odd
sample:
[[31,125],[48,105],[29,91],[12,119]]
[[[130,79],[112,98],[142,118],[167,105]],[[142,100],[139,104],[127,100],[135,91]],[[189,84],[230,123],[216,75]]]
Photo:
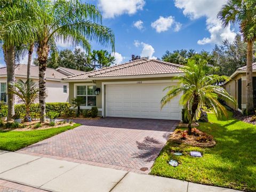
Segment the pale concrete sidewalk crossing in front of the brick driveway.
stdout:
[[0,179],[48,191],[236,191],[6,151],[0,151]]

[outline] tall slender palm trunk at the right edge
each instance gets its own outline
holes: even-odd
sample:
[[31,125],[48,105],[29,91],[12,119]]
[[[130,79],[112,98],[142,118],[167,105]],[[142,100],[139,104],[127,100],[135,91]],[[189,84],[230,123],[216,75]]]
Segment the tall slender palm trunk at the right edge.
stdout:
[[246,64],[246,110],[247,114],[253,114],[253,91],[252,91],[252,50],[253,41],[247,42]]

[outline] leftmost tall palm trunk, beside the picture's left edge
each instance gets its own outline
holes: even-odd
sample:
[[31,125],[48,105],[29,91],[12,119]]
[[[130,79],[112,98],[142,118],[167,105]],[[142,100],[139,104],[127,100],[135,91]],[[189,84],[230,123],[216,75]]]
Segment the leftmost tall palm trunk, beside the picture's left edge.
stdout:
[[7,70],[7,105],[8,105],[8,114],[7,114],[7,121],[12,119],[12,116],[15,114],[14,112],[14,95],[11,91],[13,86],[10,82],[15,81],[15,50],[14,46],[9,48],[4,48],[4,59],[6,63],[6,70]]

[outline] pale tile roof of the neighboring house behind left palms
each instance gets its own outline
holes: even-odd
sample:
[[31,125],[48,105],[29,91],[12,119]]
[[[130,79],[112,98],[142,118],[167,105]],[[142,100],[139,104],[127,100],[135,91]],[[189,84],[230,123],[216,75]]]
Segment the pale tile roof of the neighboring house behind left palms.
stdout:
[[[31,78],[36,77],[38,78],[39,70],[37,66],[31,66],[30,67],[30,76]],[[7,71],[6,67],[0,68],[0,76],[6,76]],[[27,65],[25,64],[18,64],[15,65],[15,75],[17,76],[27,76]],[[66,75],[60,73],[59,71],[52,69],[52,68],[46,68],[45,71],[46,79],[62,79],[64,77],[67,77]]]

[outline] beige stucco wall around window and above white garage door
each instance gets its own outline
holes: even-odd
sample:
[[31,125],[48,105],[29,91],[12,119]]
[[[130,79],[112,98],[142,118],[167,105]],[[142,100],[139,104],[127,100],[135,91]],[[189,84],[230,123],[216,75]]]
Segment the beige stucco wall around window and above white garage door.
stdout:
[[[157,80],[170,80],[173,77],[158,77],[158,78],[133,78],[133,79],[106,79],[106,80],[95,80],[93,82],[69,82],[69,103],[71,104],[72,100],[74,99],[75,95],[75,85],[79,84],[95,84],[97,87],[100,88],[100,94],[96,96],[96,106],[99,109],[99,115],[101,115],[102,109],[102,82],[137,82],[137,81],[157,81]],[[104,89],[106,91],[106,89]],[[83,107],[82,107],[83,109]]]

